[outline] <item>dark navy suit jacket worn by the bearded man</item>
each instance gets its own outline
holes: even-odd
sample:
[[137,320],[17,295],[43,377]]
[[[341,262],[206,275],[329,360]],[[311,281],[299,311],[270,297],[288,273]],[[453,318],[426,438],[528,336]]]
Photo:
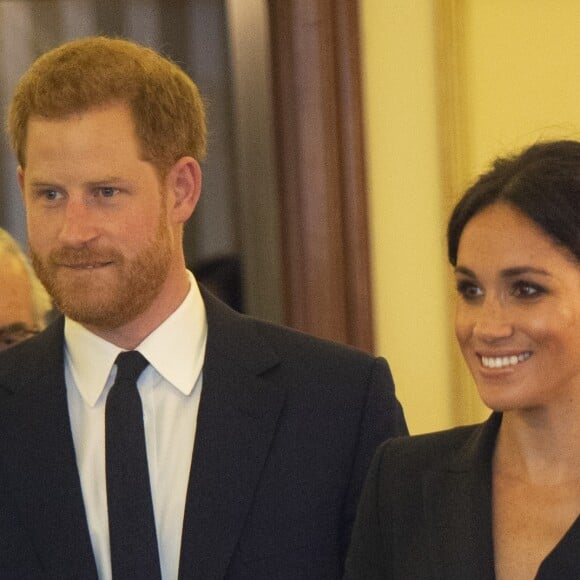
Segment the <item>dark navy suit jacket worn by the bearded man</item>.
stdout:
[[[377,445],[407,432],[384,359],[204,292],[208,342],[180,578],[340,578]],[[96,579],[63,320],[0,354],[0,576]]]

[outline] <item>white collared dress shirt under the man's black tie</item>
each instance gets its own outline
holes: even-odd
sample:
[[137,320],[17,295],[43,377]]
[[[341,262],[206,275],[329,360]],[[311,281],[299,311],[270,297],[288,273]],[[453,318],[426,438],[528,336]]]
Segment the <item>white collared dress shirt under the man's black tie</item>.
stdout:
[[[185,300],[135,349],[149,361],[137,386],[164,580],[176,580],[179,569],[207,340],[205,307],[193,275],[189,276]],[[86,516],[99,578],[110,580],[105,402],[122,349],[68,318],[65,341],[68,408]]]

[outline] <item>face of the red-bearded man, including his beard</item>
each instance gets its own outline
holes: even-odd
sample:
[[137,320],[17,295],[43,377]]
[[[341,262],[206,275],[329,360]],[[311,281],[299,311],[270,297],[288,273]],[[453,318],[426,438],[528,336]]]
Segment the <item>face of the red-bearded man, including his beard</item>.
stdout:
[[70,318],[115,329],[157,299],[176,260],[163,184],[125,105],[33,117],[19,169],[34,268]]

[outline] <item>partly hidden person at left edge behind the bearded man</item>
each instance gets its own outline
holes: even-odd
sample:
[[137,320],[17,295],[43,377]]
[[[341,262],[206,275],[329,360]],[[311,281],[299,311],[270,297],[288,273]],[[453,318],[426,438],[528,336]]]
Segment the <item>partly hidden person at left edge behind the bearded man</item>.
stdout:
[[18,242],[0,228],[0,350],[42,330],[51,310]]

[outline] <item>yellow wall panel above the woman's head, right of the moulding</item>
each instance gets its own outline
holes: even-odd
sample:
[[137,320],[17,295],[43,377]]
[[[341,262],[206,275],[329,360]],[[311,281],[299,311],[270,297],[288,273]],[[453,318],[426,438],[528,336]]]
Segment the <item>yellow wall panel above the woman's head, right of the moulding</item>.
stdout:
[[538,139],[579,139],[580,2],[462,4],[473,173]]

